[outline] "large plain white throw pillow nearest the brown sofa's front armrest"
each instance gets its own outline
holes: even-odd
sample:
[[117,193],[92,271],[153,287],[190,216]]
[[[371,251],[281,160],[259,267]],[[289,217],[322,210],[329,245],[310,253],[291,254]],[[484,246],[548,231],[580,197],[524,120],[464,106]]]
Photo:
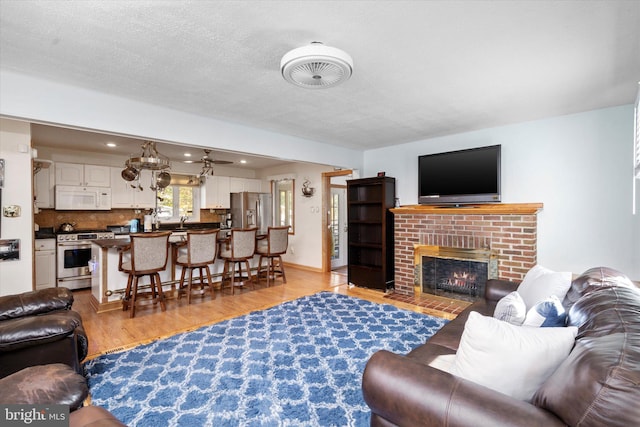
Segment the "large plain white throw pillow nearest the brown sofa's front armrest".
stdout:
[[530,401],[567,358],[578,328],[514,326],[472,311],[450,373]]

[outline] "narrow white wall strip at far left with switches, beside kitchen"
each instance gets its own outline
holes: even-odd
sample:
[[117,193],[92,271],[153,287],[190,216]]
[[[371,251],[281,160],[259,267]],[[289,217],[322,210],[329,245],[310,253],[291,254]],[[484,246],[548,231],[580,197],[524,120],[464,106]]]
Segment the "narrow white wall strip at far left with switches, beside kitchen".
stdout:
[[0,213],[0,239],[20,239],[20,260],[0,261],[0,295],[33,289],[33,199],[29,124],[0,119],[0,159],[5,161],[2,207],[20,206],[21,216]]

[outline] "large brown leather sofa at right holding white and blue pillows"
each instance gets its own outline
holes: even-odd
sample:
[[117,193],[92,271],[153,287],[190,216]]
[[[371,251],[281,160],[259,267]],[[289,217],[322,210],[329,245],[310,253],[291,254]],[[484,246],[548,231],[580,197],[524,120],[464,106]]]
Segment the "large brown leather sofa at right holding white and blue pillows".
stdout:
[[491,316],[517,284],[490,280],[472,304],[407,355],[379,351],[362,379],[372,426],[640,425],[640,290],[622,273],[594,268],[573,280],[563,301],[578,336],[568,358],[532,402],[428,364],[458,348],[471,311]]

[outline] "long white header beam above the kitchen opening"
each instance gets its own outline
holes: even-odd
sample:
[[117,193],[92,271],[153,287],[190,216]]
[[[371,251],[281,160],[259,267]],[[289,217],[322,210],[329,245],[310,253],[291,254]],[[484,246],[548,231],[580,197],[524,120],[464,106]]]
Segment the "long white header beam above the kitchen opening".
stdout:
[[0,116],[348,168],[362,152],[0,70]]

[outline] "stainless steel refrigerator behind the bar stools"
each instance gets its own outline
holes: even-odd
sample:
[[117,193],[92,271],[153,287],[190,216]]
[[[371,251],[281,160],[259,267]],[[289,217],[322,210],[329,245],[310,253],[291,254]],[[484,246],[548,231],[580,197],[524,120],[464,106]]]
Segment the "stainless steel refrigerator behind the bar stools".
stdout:
[[271,194],[231,193],[232,227],[258,227],[258,234],[267,234],[267,227],[273,224],[272,218]]

